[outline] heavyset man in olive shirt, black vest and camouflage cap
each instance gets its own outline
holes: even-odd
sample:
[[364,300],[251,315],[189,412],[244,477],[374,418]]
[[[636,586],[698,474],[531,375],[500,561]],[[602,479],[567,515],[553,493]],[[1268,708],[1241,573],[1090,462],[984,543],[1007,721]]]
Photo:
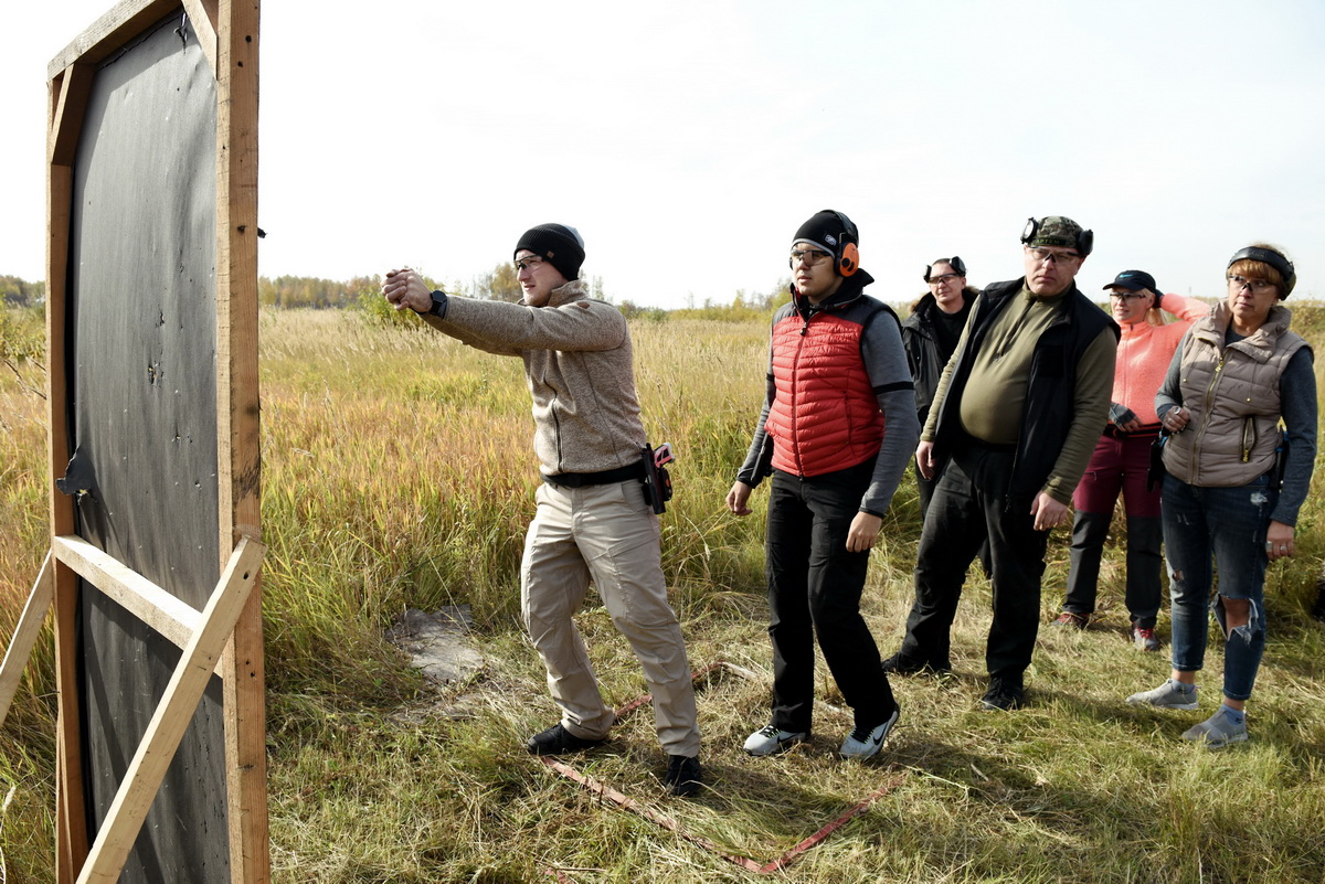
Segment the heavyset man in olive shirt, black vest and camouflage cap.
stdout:
[[987,286],[975,302],[916,449],[921,474],[941,479],[921,532],[906,637],[885,668],[951,667],[949,631],[987,535],[994,621],[986,709],[1022,704],[1048,532],[1067,521],[1108,421],[1118,327],[1075,283],[1093,240],[1071,218],[1030,220],[1026,275]]

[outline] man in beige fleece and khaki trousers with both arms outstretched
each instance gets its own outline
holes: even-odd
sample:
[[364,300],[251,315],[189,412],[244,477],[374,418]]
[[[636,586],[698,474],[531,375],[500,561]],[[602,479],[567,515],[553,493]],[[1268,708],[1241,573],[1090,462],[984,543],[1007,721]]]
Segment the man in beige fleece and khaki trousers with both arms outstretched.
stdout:
[[574,228],[542,224],[514,251],[518,304],[428,291],[413,270],[387,274],[383,294],[437,331],[490,353],[518,356],[534,398],[538,509],[525,540],[521,610],[547,667],[562,720],[529,738],[534,754],[602,744],[615,721],[572,615],[590,580],[631,642],[653,695],[665,782],[700,790],[700,730],[681,626],[666,599],[659,519],[645,504],[647,445],[625,318],[587,296],[584,243]]

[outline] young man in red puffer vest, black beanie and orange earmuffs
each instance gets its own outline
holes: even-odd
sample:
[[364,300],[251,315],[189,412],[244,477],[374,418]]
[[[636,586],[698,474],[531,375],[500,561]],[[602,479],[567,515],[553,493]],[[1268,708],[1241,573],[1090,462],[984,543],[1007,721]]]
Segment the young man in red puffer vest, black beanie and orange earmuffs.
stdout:
[[767,392],[727,508],[768,500],[772,716],[745,750],[767,756],[810,737],[815,637],[855,728],[839,754],[876,754],[898,708],[860,614],[869,549],[920,438],[897,315],[864,294],[859,234],[840,212],[816,213],[791,245],[791,303],[776,312]]

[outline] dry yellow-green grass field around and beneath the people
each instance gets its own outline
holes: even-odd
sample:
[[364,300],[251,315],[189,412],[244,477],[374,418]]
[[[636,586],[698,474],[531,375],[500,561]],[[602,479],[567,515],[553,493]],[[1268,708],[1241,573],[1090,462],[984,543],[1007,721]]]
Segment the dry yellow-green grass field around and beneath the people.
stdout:
[[[1325,310],[1297,306],[1296,326],[1325,341]],[[851,719],[823,667],[815,740],[750,758],[741,741],[766,723],[768,703],[763,516],[734,519],[722,499],[758,416],[767,328],[672,316],[636,320],[632,333],[651,438],[680,458],[664,565],[692,663],[726,662],[754,680],[717,670],[700,683],[697,799],[664,795],[647,709],[607,748],[570,762],[692,838],[522,748],[556,712],[518,625],[538,482],[518,360],[356,311],[273,311],[261,320],[273,881],[1325,880],[1325,627],[1308,615],[1325,551],[1318,499],[1300,524],[1300,556],[1267,581],[1271,637],[1248,744],[1208,752],[1178,738],[1214,708],[1218,641],[1202,712],[1124,704],[1165,678],[1167,656],[1128,642],[1114,539],[1097,625],[1041,630],[1026,709],[977,711],[988,625],[977,569],[954,630],[954,674],[896,682],[902,717],[876,760],[836,760]],[[44,402],[30,389],[42,385],[37,363],[0,365],[5,643],[46,544]],[[761,488],[754,506],[765,503]],[[901,637],[917,539],[908,476],[867,586],[885,654]],[[1067,544],[1059,529],[1045,619],[1061,598]],[[457,603],[472,606],[486,666],[436,685],[387,630],[405,609]],[[579,625],[611,700],[641,695],[639,667],[592,596]],[[1161,635],[1167,648],[1166,618]],[[0,729],[5,884],[54,880],[49,623],[40,647]],[[868,795],[860,814],[771,875],[697,843],[763,863]]]

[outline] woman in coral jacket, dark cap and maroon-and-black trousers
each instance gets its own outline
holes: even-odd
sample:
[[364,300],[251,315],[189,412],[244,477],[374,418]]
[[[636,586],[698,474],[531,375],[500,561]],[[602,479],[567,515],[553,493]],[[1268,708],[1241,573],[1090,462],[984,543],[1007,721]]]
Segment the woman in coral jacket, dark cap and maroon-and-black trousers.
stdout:
[[[1132,641],[1143,651],[1158,651],[1155,619],[1162,585],[1159,570],[1159,488],[1149,488],[1150,445],[1159,435],[1154,398],[1178,341],[1192,320],[1210,307],[1192,298],[1161,294],[1154,277],[1124,270],[1105,286],[1113,319],[1122,328],[1113,373],[1109,423],[1081,476],[1072,504],[1071,566],[1057,626],[1085,629],[1094,614],[1104,540],[1113,506],[1122,492],[1128,512],[1128,578],[1125,601],[1132,615]],[[1178,316],[1165,323],[1163,311]]]

